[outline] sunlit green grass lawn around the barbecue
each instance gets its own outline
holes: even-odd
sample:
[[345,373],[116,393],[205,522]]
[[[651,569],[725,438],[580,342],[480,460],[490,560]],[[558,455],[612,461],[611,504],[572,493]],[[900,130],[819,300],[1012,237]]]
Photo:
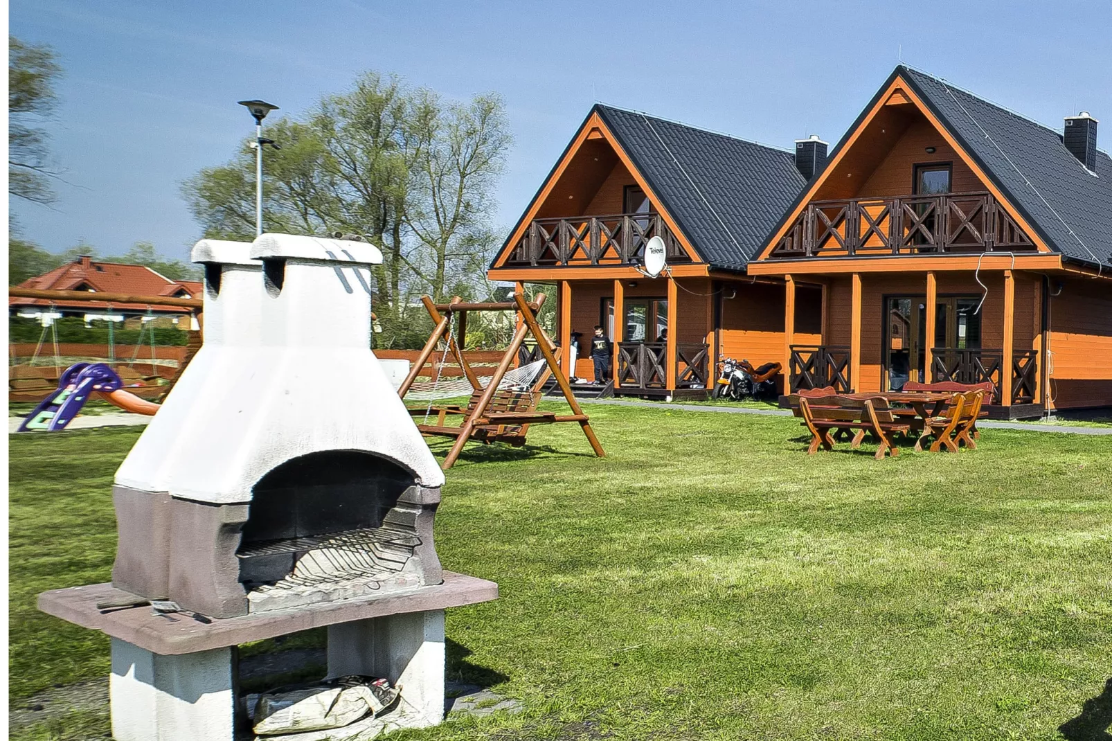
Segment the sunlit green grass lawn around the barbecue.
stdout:
[[[526,711],[398,738],[1051,740],[1112,676],[1112,438],[874,461],[806,456],[792,418],[587,412],[606,458],[576,425],[469,447],[437,515],[445,566],[502,592],[448,612],[449,676]],[[138,434],[10,438],[13,703],[108,672],[34,594],[109,579]],[[1064,738],[1108,738],[1079,733],[1109,695]]]

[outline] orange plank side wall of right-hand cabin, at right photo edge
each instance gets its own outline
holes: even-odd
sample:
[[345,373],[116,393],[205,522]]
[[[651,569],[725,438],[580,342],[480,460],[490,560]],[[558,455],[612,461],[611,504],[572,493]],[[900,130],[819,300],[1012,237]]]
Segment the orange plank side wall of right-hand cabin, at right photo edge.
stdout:
[[[1108,280],[1051,279],[1050,389],[1059,409],[1112,406],[1112,286]],[[1015,302],[1020,306],[1019,298]]]

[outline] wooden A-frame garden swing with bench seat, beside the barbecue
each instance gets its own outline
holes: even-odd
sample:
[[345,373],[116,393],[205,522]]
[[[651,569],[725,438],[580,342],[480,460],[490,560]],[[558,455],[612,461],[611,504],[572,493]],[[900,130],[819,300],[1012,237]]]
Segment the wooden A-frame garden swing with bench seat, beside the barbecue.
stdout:
[[[507,443],[519,447],[525,444],[525,435],[529,425],[554,424],[558,422],[578,422],[579,426],[583,427],[583,433],[587,436],[587,442],[594,448],[595,455],[599,457],[606,455],[598,438],[595,437],[595,431],[590,428],[589,418],[583,413],[579,403],[572,394],[567,376],[564,375],[563,369],[560,369],[556,360],[557,348],[548,338],[548,335],[545,334],[545,330],[542,329],[540,325],[537,324],[536,313],[544,306],[544,294],[538,294],[533,304],[526,302],[525,296],[522,294],[514,294],[514,300],[505,303],[467,304],[459,298],[454,298],[449,304],[435,304],[428,296],[424,296],[421,302],[425,304],[429,316],[433,317],[435,328],[428,342],[425,343],[425,347],[421,349],[417,362],[414,363],[413,368],[409,370],[409,375],[406,376],[405,382],[398,388],[398,395],[405,399],[406,394],[417,381],[418,374],[420,374],[425,364],[428,363],[429,358],[436,352],[436,346],[440,342],[446,343],[445,356],[450,352],[455,360],[459,364],[471,392],[471,397],[467,406],[433,406],[430,404],[426,408],[409,408],[411,415],[415,417],[425,416],[426,421],[428,415],[436,414],[436,424],[417,425],[417,428],[423,434],[456,438],[456,443],[448,452],[448,457],[445,458],[441,468],[447,471],[456,463],[456,458],[459,457],[464,445],[469,439],[487,444]],[[513,310],[516,310],[520,317],[517,330],[514,333],[514,339],[502,356],[502,360],[498,363],[494,375],[489,378],[479,379],[475,374],[475,369],[464,358],[463,353],[467,338],[467,313]],[[456,325],[455,336],[451,333],[454,323]],[[504,383],[506,373],[518,357],[522,345],[528,335],[533,335],[536,339],[537,348],[544,357],[546,367],[528,385],[524,383],[509,383],[507,385]],[[572,407],[572,414],[557,415],[555,412],[537,409],[542,388],[549,375],[556,378],[556,384],[564,392],[564,398],[567,399],[568,406]],[[484,381],[486,382],[485,385]],[[446,426],[445,419],[449,415],[461,415],[464,421],[458,427]]]

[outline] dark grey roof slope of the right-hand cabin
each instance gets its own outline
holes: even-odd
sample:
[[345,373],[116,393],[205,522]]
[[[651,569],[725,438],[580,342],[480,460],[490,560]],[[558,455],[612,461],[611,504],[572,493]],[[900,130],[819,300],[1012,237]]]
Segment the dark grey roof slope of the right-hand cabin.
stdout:
[[1096,152],[1093,175],[1058,131],[917,70],[901,66],[895,75],[1053,248],[1084,263],[1112,265],[1112,158],[1106,152]]

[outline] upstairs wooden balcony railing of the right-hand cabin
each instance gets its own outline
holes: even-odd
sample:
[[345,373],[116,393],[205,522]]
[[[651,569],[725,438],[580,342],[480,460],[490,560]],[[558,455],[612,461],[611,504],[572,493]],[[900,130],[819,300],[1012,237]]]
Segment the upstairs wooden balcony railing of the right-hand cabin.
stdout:
[[816,200],[772,258],[1034,250],[990,192]]

